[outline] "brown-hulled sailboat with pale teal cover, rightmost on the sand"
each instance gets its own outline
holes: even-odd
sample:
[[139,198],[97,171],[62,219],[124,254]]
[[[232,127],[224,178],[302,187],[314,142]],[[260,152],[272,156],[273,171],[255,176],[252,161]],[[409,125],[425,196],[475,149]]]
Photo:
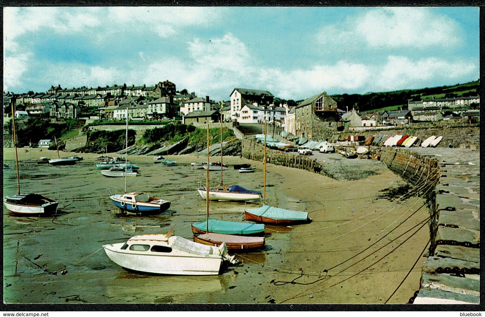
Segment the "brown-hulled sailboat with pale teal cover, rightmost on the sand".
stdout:
[[[266,134],[266,121],[264,122],[264,134]],[[264,142],[264,186],[263,186],[263,206],[259,208],[246,209],[244,215],[246,220],[263,222],[268,224],[301,224],[311,222],[308,213],[303,211],[293,211],[283,208],[267,206],[266,203],[266,141]]]

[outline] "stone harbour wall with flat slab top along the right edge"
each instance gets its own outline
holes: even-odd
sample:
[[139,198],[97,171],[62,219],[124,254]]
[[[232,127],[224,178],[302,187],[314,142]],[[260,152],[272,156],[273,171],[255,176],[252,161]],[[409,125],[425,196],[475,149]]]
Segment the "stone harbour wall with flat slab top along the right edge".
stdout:
[[430,214],[428,258],[422,266],[420,289],[411,301],[479,303],[479,161],[440,163],[396,148],[382,148],[381,160],[404,180],[420,186]]

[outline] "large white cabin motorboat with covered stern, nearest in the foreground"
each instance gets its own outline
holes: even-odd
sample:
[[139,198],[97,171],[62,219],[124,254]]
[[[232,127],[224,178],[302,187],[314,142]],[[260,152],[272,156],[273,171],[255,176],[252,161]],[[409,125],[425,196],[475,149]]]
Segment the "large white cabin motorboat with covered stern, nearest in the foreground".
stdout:
[[178,236],[142,235],[126,243],[103,245],[106,255],[123,268],[170,275],[217,275],[223,262],[238,260],[219,247],[196,243]]

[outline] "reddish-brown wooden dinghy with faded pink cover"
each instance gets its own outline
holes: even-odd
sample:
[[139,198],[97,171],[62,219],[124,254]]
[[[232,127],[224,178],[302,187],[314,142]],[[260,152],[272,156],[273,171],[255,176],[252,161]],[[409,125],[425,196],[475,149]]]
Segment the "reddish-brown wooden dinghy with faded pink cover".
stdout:
[[194,237],[194,242],[206,245],[213,245],[216,247],[222,245],[223,243],[226,243],[227,249],[234,251],[256,249],[264,246],[263,237],[244,237],[213,232],[205,233],[203,235]]

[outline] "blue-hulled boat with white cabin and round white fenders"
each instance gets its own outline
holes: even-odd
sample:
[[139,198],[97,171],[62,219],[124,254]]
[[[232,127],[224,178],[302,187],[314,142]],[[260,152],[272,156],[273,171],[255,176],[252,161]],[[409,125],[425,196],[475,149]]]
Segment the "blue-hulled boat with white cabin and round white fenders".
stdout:
[[114,206],[132,213],[159,214],[170,208],[170,202],[151,197],[146,192],[110,195]]

